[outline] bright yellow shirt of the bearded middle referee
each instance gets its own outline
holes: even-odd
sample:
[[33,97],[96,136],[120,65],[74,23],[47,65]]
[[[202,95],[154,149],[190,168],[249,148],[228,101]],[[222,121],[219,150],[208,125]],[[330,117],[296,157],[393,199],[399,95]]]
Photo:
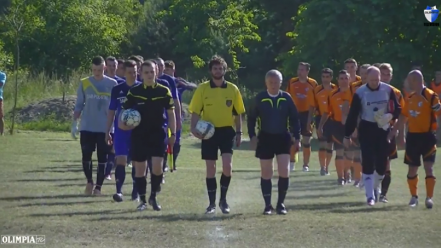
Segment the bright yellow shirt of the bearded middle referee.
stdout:
[[201,115],[214,127],[222,128],[234,126],[234,115],[245,113],[245,106],[237,86],[224,81],[222,86],[216,87],[210,80],[198,86],[189,111]]

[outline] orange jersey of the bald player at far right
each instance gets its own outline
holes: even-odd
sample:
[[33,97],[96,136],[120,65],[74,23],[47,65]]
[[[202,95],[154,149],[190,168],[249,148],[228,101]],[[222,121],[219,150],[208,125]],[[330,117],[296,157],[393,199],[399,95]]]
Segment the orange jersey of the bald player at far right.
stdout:
[[436,116],[441,114],[438,95],[428,88],[421,95],[410,94],[401,114],[408,117],[409,133],[435,132]]

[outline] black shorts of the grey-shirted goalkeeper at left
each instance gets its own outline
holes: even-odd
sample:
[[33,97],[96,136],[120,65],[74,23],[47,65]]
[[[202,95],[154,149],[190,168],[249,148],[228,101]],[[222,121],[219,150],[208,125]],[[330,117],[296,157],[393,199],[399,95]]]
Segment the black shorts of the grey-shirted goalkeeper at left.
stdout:
[[83,157],[89,156],[96,150],[99,163],[107,162],[107,154],[112,151],[112,146],[105,142],[105,133],[81,131],[80,144]]

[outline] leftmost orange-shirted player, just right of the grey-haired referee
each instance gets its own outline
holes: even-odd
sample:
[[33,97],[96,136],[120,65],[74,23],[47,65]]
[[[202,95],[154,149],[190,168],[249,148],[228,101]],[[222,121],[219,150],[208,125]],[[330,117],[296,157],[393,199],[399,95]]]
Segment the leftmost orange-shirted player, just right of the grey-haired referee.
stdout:
[[[305,62],[300,62],[297,68],[297,77],[291,78],[288,83],[286,92],[288,92],[297,110],[299,111],[300,127],[302,132],[302,149],[303,149],[303,171],[309,171],[309,158],[311,156],[311,136],[312,128],[307,128],[309,117],[308,92],[313,91],[317,87],[317,81],[308,77],[311,65]],[[290,170],[295,169],[295,158],[297,150],[291,148],[291,162]]]

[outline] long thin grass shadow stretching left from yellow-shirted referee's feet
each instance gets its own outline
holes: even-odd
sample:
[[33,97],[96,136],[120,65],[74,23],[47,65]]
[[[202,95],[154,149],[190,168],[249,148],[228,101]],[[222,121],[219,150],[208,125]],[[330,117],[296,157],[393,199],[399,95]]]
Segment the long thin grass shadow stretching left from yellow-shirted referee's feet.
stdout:
[[225,221],[236,218],[244,218],[243,214],[230,214],[222,216],[207,216],[202,214],[170,214],[157,216],[136,216],[136,217],[101,217],[87,221],[119,221],[119,220],[159,220],[163,222],[174,221],[191,221],[191,222],[208,222],[208,221]]

